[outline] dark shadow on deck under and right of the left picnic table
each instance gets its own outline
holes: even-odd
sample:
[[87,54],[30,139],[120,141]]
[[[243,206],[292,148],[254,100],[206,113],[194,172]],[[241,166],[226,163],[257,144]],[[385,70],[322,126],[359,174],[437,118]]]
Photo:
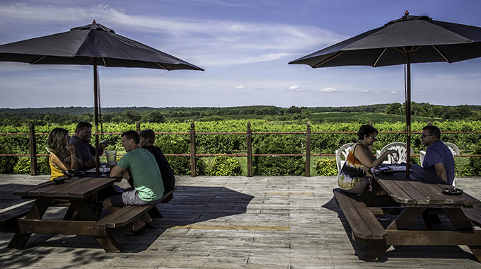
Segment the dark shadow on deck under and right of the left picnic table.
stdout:
[[[162,217],[152,217],[153,222],[149,228],[144,229],[136,236],[114,236],[114,238],[124,253],[146,251],[167,229],[243,214],[253,198],[252,195],[239,193],[222,186],[178,185],[172,200],[157,205]],[[59,217],[62,212],[64,211],[57,210],[48,218]],[[100,217],[108,214],[109,212],[103,210]],[[34,234],[25,245],[25,249],[34,250],[38,246],[59,248],[67,246],[66,249],[69,251],[73,247],[78,250],[74,253],[79,251],[83,253],[80,249],[88,251],[88,248],[101,248],[93,236]]]

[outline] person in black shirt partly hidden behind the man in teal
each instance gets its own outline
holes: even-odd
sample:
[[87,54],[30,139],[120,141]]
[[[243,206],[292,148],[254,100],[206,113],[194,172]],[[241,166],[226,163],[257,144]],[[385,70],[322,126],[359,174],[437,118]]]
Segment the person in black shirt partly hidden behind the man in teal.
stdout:
[[162,150],[159,147],[153,145],[156,141],[156,133],[151,129],[141,130],[140,135],[140,147],[147,149],[156,157],[158,168],[161,170],[163,187],[166,189],[166,193],[173,190],[175,187],[175,176],[170,164],[163,155]]

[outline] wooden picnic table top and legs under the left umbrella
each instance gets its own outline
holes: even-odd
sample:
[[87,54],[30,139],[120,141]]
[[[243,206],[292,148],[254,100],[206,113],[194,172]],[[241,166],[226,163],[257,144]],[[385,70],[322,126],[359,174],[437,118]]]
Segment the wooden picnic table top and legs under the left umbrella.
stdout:
[[[23,248],[31,234],[35,233],[82,234],[95,236],[105,251],[117,251],[120,248],[112,238],[112,234],[107,229],[98,227],[99,216],[89,201],[95,197],[98,191],[108,188],[117,181],[120,181],[120,178],[87,176],[67,179],[63,184],[47,181],[14,192],[13,195],[34,199],[35,202],[25,219],[18,219],[20,232],[13,236],[8,247]],[[47,209],[55,204],[54,200],[69,200],[69,209],[66,211],[64,219],[42,219]],[[78,220],[71,219],[74,212],[77,212]],[[129,227],[125,229],[129,229]]]

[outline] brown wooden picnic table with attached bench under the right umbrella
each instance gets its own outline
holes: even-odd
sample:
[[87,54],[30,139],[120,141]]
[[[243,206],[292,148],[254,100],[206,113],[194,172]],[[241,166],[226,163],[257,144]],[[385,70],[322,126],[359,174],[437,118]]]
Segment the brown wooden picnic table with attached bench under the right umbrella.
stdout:
[[[446,182],[424,168],[413,164],[410,178],[405,171],[373,176],[373,190],[366,188],[362,197],[335,190],[335,198],[352,227],[353,239],[371,245],[362,258],[376,261],[390,246],[458,246],[466,245],[481,262],[481,230],[475,229],[465,210],[471,210],[481,201],[468,193],[446,195]],[[376,196],[383,189],[388,196]],[[400,210],[386,228],[374,217],[374,208],[390,207]],[[394,208],[393,208],[394,207]],[[434,226],[429,212],[446,214],[450,225]],[[425,229],[412,224],[422,217]]]

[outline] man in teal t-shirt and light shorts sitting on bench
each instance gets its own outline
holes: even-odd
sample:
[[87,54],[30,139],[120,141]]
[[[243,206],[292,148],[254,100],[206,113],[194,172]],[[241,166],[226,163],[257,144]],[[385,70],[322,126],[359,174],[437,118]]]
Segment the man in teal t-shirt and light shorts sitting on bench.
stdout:
[[[112,168],[110,176],[133,180],[133,190],[105,199],[103,205],[106,210],[114,212],[125,205],[153,205],[162,198],[163,184],[161,171],[158,169],[155,157],[146,149],[139,146],[140,137],[135,131],[122,134],[122,147],[127,153],[119,163]],[[129,175],[130,174],[130,175]],[[145,224],[152,222],[149,214],[144,214],[142,220],[134,220],[134,231],[139,231]]]

